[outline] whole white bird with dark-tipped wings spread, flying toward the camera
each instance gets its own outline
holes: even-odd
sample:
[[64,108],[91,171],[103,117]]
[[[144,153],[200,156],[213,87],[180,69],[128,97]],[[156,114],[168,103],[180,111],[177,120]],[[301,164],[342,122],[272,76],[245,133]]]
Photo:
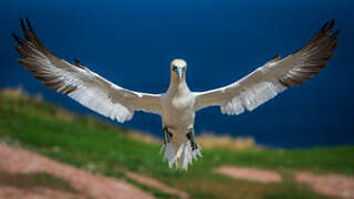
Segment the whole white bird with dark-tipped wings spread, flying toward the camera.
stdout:
[[164,129],[164,159],[169,167],[187,169],[201,156],[195,140],[195,113],[204,107],[220,106],[222,114],[238,115],[252,111],[288,87],[312,78],[332,57],[337,46],[339,30],[332,33],[334,20],[326,22],[302,49],[272,60],[251,74],[221,88],[190,92],[186,83],[187,63],[177,59],[170,63],[170,83],[164,94],[133,92],[111,83],[90,71],[79,61],[73,64],[52,54],[37,38],[27,19],[21,19],[25,40],[12,34],[23,56],[18,60],[35,78],[59,93],[67,94],[80,104],[119,123],[129,121],[135,111],[158,114]]

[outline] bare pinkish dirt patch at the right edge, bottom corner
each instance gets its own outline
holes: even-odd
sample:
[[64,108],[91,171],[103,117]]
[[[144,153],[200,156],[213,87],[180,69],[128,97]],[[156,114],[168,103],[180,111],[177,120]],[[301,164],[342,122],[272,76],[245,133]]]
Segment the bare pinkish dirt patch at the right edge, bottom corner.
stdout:
[[354,178],[341,175],[315,175],[311,172],[298,172],[295,179],[299,182],[310,185],[315,191],[325,195],[354,199]]

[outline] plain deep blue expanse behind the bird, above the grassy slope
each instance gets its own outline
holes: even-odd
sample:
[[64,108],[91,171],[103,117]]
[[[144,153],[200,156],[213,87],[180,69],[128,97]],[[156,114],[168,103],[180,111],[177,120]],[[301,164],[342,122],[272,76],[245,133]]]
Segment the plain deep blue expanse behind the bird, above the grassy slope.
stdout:
[[[252,3],[250,3],[252,2]],[[232,83],[269,61],[305,44],[326,20],[342,30],[336,55],[314,80],[288,90],[251,113],[197,113],[196,132],[252,136],[274,147],[354,144],[354,1],[0,1],[0,87],[30,93],[95,115],[41,85],[14,60],[11,32],[29,17],[56,55],[79,59],[92,71],[129,90],[163,93],[169,62],[187,61],[192,91]],[[138,76],[136,76],[138,73]],[[159,116],[137,113],[123,126],[160,135]]]

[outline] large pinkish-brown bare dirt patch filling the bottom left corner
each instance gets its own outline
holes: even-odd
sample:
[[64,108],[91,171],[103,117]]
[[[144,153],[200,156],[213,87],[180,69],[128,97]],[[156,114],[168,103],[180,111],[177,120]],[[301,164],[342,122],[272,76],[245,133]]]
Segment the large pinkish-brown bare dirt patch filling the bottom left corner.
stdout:
[[[84,170],[54,161],[31,151],[0,143],[0,170],[10,175],[46,172],[69,181],[84,198],[153,199],[154,197],[125,181],[93,175]],[[20,189],[0,185],[0,198],[81,198],[67,191],[50,188]],[[75,196],[75,197],[72,197]]]

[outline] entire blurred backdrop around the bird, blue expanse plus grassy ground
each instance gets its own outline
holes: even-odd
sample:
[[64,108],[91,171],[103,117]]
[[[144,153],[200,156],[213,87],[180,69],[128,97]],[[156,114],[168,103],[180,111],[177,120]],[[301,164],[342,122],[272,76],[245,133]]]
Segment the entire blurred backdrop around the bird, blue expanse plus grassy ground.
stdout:
[[[353,10],[351,0],[0,1],[0,199],[353,199]],[[331,19],[341,33],[305,84],[242,115],[198,112],[204,157],[181,171],[158,154],[159,116],[112,122],[18,64],[20,18],[58,56],[148,93],[167,90],[177,57],[190,90],[206,91],[293,53]]]

